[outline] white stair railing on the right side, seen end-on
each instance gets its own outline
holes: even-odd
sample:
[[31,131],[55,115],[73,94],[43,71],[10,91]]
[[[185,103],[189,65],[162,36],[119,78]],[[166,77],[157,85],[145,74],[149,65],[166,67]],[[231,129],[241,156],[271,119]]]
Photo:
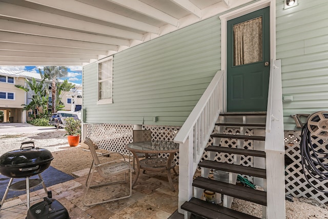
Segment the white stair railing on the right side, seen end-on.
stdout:
[[271,61],[267,122],[265,127],[265,166],[267,169],[267,215],[286,218],[284,135],[282,114],[281,61]]

